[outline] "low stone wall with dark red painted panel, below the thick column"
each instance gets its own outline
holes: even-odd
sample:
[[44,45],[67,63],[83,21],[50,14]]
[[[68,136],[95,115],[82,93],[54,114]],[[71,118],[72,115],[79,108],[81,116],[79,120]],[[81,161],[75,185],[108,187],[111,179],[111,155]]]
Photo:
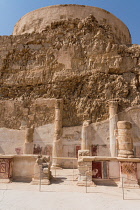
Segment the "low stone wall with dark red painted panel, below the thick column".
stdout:
[[92,186],[106,182],[122,187],[123,182],[124,187],[139,188],[139,158],[88,156],[88,150],[81,150],[78,170],[78,185]]

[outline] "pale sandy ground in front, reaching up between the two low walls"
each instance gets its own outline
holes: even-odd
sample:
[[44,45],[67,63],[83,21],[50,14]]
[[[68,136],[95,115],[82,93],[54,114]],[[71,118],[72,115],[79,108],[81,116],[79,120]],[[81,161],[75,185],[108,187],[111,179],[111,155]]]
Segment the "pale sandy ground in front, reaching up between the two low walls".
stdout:
[[[54,173],[54,172],[53,172]],[[77,171],[61,170],[51,185],[0,184],[1,210],[139,210],[140,189],[76,185]],[[74,181],[73,181],[74,178]]]

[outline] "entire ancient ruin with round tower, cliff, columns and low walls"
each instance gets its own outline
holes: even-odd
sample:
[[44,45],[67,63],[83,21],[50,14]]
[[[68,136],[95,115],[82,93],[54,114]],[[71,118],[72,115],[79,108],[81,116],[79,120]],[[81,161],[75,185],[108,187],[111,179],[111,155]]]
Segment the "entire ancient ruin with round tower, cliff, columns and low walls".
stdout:
[[0,83],[0,179],[38,180],[36,159],[47,155],[52,168],[77,157],[78,185],[139,186],[140,46],[113,14],[84,5],[26,14],[0,36]]

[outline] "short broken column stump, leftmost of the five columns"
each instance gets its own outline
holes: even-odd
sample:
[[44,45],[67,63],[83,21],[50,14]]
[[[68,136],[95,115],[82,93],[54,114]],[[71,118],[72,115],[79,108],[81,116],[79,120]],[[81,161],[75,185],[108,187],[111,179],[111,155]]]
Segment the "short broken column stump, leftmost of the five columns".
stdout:
[[24,143],[24,154],[33,154],[33,134],[34,126],[26,128],[25,130],[25,143]]

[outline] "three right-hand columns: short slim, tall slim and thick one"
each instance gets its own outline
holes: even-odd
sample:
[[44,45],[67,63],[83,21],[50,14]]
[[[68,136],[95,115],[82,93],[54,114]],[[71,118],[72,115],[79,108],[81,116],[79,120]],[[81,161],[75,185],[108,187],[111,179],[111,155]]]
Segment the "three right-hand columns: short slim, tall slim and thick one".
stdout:
[[[132,124],[127,121],[118,121],[118,102],[109,102],[109,138],[111,157],[134,157],[133,139],[131,136]],[[90,121],[84,121],[81,134],[81,150],[90,150],[88,133]]]

